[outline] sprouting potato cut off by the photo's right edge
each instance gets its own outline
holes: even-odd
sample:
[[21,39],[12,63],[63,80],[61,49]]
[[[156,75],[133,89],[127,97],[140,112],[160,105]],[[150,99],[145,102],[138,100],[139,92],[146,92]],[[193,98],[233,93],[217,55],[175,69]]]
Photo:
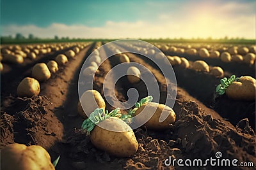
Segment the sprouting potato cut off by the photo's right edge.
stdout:
[[238,81],[233,81],[225,93],[230,99],[254,101],[256,80],[251,76],[242,76]]

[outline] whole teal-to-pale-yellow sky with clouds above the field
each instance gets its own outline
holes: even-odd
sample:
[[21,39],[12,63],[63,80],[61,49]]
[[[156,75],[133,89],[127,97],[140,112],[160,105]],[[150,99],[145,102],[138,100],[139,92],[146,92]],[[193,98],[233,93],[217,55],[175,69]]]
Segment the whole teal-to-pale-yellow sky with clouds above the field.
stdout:
[[28,31],[40,37],[255,38],[255,2],[1,0],[1,34]]

